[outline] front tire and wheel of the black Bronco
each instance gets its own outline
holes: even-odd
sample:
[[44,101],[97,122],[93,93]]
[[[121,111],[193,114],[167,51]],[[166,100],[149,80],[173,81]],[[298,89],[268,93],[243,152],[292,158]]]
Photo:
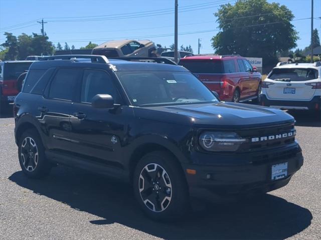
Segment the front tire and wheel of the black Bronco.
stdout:
[[133,189],[144,213],[154,220],[177,219],[188,209],[185,176],[180,164],[166,151],[153,151],[139,160]]

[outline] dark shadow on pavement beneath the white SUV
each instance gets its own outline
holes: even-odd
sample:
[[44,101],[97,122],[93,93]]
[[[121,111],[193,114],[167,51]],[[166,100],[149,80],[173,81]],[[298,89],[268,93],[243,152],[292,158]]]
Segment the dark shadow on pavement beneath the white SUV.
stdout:
[[288,110],[297,126],[321,126],[321,111],[307,111],[307,110]]

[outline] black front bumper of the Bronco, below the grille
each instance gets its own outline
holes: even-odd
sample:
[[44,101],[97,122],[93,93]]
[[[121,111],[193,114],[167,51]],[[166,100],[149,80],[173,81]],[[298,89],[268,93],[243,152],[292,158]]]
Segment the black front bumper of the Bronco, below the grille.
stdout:
[[[259,155],[266,157],[262,158]],[[239,153],[232,156],[197,152],[193,157],[198,164],[183,164],[183,167],[190,194],[194,196],[209,192],[268,192],[286,185],[303,164],[301,148],[296,142],[288,147],[274,148],[261,153]],[[195,159],[196,157],[198,159]],[[203,164],[199,164],[202,161]],[[287,162],[287,176],[272,180],[272,165],[283,162]],[[196,174],[187,173],[187,169],[195,169]]]

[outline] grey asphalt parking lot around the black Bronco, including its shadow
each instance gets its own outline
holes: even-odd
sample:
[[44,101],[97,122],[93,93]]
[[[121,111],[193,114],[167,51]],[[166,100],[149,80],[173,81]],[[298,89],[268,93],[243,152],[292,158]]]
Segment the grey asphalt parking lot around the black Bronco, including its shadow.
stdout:
[[1,239],[320,239],[321,119],[291,111],[305,157],[290,183],[259,199],[193,201],[179,222],[146,218],[130,186],[64,166],[28,179],[18,163],[14,118],[0,118]]

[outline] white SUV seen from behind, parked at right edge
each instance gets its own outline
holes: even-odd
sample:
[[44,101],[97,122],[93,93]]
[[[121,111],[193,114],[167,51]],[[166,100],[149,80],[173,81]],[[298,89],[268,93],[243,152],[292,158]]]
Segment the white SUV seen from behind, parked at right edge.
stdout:
[[262,82],[260,102],[281,109],[320,110],[321,61],[277,63]]

